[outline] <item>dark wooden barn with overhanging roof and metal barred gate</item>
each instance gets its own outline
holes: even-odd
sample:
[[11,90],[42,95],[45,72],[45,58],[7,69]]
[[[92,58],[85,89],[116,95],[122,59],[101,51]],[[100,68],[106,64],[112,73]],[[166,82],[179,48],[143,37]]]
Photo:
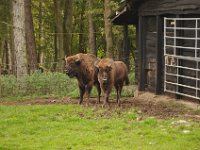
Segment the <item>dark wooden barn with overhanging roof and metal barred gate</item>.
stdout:
[[139,91],[200,100],[200,0],[125,0],[110,19],[136,27]]

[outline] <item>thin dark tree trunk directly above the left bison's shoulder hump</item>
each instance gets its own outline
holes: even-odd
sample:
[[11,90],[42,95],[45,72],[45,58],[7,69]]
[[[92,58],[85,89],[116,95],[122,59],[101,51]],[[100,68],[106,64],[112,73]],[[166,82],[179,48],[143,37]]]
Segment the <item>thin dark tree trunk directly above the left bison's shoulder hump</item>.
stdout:
[[86,4],[86,0],[83,0],[81,15],[80,15],[80,34],[79,34],[79,52],[80,53],[85,53],[85,41],[84,41],[84,35],[82,34],[84,32],[85,4]]

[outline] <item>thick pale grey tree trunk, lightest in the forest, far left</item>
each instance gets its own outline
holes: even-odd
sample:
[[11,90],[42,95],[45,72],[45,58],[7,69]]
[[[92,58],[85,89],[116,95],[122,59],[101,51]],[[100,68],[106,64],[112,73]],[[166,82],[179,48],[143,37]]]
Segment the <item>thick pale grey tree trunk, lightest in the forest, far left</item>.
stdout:
[[13,38],[17,78],[27,74],[24,0],[13,0]]

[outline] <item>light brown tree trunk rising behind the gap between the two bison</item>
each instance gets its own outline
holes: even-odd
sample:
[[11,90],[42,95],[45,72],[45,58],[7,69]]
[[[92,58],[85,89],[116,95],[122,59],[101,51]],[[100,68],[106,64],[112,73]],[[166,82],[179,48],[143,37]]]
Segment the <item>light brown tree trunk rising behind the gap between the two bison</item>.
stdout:
[[93,16],[92,16],[92,0],[88,1],[89,5],[89,48],[90,48],[90,53],[93,55],[97,55],[96,51],[96,35],[95,35],[95,25],[93,21]]

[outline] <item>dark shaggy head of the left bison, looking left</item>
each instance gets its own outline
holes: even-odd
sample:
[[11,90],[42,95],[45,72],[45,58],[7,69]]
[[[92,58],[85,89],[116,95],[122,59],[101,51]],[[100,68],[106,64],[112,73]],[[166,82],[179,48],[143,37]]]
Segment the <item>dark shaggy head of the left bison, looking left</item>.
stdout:
[[79,74],[81,60],[77,55],[65,56],[65,73],[70,77],[77,77]]

